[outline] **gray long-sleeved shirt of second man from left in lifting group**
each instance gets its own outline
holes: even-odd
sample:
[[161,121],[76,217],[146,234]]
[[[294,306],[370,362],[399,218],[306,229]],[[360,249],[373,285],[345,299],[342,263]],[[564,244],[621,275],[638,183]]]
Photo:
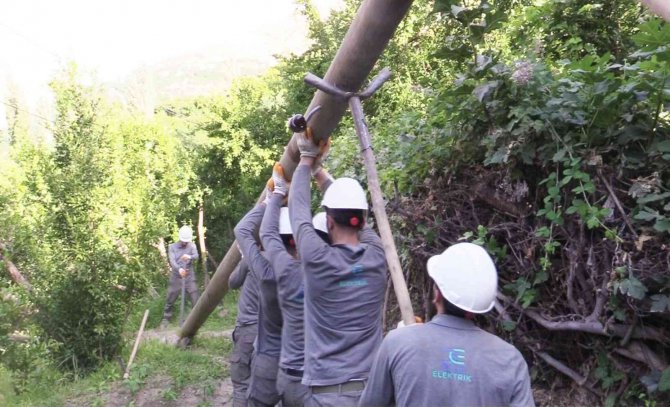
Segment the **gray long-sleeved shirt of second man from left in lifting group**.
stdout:
[[279,358],[282,317],[277,300],[277,283],[270,262],[261,253],[254,231],[263,219],[265,205],[257,205],[235,226],[235,238],[251,272],[259,282],[258,338],[256,352]]

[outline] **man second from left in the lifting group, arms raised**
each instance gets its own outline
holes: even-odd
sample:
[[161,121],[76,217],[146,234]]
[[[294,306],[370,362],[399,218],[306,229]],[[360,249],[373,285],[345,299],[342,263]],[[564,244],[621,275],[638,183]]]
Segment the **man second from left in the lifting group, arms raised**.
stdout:
[[281,353],[282,316],[277,299],[277,282],[272,265],[261,253],[254,233],[261,224],[267,200],[253,208],[235,226],[235,238],[251,272],[259,282],[258,336],[251,361],[247,392],[249,406],[274,406],[279,402],[277,370]]

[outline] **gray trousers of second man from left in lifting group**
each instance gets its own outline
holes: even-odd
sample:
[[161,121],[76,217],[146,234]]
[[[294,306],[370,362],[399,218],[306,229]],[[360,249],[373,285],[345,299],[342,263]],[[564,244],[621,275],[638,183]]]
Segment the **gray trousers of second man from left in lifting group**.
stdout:
[[254,354],[251,361],[251,379],[249,381],[249,406],[267,407],[279,403],[277,393],[277,370],[279,356],[264,353]]

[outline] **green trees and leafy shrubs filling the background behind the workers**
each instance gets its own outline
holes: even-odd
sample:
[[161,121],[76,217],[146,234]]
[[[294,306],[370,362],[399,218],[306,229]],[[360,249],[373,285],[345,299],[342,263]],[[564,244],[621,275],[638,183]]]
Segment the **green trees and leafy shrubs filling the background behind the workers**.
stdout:
[[[193,224],[200,202],[208,249],[222,258],[288,140],[286,118],[311,100],[304,74],[325,74],[359,3],[322,21],[298,1],[305,53],[152,118],[110,103],[74,69],[53,83],[53,139],[10,112],[0,242],[34,286],[3,280],[11,317],[0,347],[15,383],[29,383],[38,360],[77,370],[117,354],[127,309],[164,278],[154,245]],[[430,314],[426,258],[474,241],[496,259],[507,314],[483,323],[523,350],[536,384],[557,377],[541,347],[601,401],[663,397],[670,371],[622,360],[631,338],[608,327],[665,335],[634,342],[667,366],[668,44],[670,27],[632,0],[414,2],[378,63],[393,78],[364,107],[417,312]],[[345,117],[326,166],[365,183],[357,144]],[[552,336],[533,310],[604,334]],[[3,342],[17,330],[40,339]]]

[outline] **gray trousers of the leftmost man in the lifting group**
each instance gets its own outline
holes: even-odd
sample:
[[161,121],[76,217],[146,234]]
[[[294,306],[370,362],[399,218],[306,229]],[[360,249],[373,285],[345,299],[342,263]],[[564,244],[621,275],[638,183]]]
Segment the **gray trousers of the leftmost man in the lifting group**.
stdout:
[[247,390],[251,376],[251,358],[258,324],[235,327],[233,352],[230,354],[230,380],[233,382],[233,407],[247,406]]

